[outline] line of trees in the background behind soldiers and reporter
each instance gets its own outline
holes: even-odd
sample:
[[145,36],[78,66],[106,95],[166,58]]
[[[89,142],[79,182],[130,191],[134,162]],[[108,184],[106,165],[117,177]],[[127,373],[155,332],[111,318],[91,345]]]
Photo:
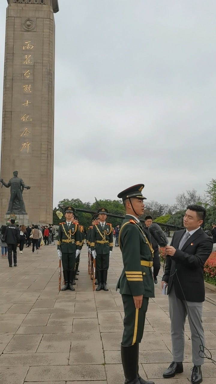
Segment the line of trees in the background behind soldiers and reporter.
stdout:
[[[145,218],[146,215],[151,215],[153,220],[158,223],[171,224],[179,227],[183,226],[183,216],[188,205],[198,204],[206,208],[207,216],[204,223],[204,229],[211,229],[211,224],[216,222],[216,179],[212,179],[209,184],[206,185],[205,194],[199,195],[195,189],[187,190],[176,196],[176,202],[173,205],[161,204],[158,201],[150,200],[145,202],[145,211],[141,218]],[[100,207],[108,209],[109,213],[125,215],[124,205],[121,200],[101,199],[98,200],[95,197],[95,202],[82,202],[80,199],[64,199],[58,204],[59,206],[72,207],[86,209],[93,212],[97,212]],[[58,225],[62,220],[56,215],[58,207],[53,209],[53,224]],[[80,223],[86,228],[91,225],[91,214],[83,212],[77,213]],[[122,220],[119,218],[109,218],[108,222],[111,222],[113,227],[121,225]]]

